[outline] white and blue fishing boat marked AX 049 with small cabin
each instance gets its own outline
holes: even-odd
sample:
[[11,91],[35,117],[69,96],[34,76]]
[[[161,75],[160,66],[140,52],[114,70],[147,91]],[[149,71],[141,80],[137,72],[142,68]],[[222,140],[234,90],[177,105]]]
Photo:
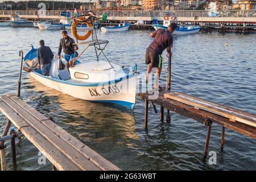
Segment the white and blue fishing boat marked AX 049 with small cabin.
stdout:
[[[96,30],[92,31],[96,35]],[[125,69],[118,64],[110,63],[105,53],[103,53],[107,44],[107,40],[98,40],[97,36],[93,36],[92,40],[77,43],[84,49],[76,57],[75,66],[69,68],[70,75],[67,67],[61,70],[60,67],[58,68],[61,63],[58,59],[52,61],[49,71],[50,76],[43,76],[40,69],[32,69],[30,75],[50,88],[82,100],[109,102],[133,109],[136,101],[137,65]],[[93,46],[94,51],[96,51],[96,60],[81,57],[82,53],[90,46]],[[99,59],[100,55],[104,56],[106,60]],[[36,49],[32,47],[24,60],[35,58]],[[64,60],[61,61],[65,62]]]

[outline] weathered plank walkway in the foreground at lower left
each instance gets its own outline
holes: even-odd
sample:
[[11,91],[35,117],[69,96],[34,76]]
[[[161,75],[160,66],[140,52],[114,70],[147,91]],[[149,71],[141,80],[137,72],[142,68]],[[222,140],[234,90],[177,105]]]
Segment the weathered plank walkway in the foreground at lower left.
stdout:
[[14,94],[0,96],[0,111],[59,170],[119,170]]

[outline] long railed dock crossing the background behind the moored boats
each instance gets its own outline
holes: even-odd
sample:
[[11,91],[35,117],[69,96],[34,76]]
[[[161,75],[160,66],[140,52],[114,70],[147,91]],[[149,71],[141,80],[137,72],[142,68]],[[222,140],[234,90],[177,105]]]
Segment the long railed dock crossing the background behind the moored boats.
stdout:
[[[0,10],[0,19],[10,19],[15,11]],[[20,18],[28,20],[60,19],[60,10],[46,10],[39,15],[38,10],[17,10]],[[70,12],[71,15],[73,12]],[[150,10],[102,10],[94,11],[97,16],[107,15],[107,22],[101,26],[115,25],[120,22],[131,23],[134,30],[152,29],[152,24],[163,24],[163,16],[171,13],[177,23],[184,26],[199,26],[204,32],[241,32],[256,33],[256,10],[217,10],[217,16],[209,16],[209,10],[150,11]],[[138,21],[143,23],[138,24]]]

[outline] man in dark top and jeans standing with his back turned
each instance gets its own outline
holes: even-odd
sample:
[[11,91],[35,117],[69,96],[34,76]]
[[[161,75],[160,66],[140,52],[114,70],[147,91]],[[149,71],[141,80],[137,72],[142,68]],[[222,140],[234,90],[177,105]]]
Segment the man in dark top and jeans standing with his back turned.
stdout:
[[42,75],[49,76],[49,68],[53,59],[52,50],[48,46],[44,46],[44,40],[39,41],[38,62],[41,68]]

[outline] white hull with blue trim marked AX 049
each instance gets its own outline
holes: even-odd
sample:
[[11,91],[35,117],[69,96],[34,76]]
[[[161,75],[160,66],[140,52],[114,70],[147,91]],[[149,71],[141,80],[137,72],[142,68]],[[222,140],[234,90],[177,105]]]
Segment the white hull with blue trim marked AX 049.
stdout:
[[[136,76],[121,79],[117,82],[109,82],[108,84],[77,84],[76,82],[68,82],[56,80],[51,77],[40,75],[40,73],[31,72],[30,75],[35,80],[41,82],[49,88],[56,89],[72,97],[80,98],[86,101],[110,102],[133,109],[136,101]],[[129,83],[129,86],[124,86]]]

